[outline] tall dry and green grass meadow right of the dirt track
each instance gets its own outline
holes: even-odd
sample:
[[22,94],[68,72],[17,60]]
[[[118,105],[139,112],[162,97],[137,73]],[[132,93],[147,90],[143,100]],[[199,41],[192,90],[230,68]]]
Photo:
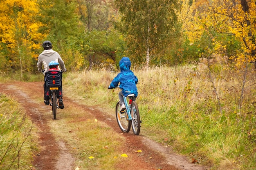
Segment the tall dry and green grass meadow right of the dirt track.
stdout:
[[[243,74],[224,68],[212,66],[214,79],[209,78],[207,64],[202,63],[133,70],[139,79],[136,101],[141,134],[171,145],[212,169],[255,168],[255,72],[248,68],[249,81],[242,86]],[[110,114],[115,114],[118,90],[107,87],[116,75],[106,69],[67,73],[63,89],[87,105],[110,107]]]

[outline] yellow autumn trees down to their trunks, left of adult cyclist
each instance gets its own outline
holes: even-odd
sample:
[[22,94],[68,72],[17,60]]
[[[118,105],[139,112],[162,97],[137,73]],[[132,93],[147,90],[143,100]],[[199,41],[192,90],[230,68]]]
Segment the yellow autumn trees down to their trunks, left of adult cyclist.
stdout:
[[35,22],[38,5],[35,0],[0,1],[0,58],[4,72],[33,71],[38,42],[44,37],[38,33],[40,22]]

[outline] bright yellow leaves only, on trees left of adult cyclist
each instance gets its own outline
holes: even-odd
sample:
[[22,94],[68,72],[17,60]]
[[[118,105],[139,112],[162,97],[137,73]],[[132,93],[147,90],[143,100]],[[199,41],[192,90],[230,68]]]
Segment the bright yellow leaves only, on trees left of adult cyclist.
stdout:
[[0,1],[0,39],[9,47],[7,50],[12,56],[22,55],[20,49],[26,48],[29,52],[21,58],[35,57],[33,50],[40,48],[35,42],[42,41],[45,35],[38,33],[42,24],[34,19],[38,9],[37,0]]

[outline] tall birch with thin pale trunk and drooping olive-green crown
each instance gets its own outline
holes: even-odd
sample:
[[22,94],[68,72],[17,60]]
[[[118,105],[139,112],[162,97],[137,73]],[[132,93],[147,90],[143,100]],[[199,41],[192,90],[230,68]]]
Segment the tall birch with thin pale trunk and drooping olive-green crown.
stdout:
[[171,43],[177,21],[178,0],[115,0],[122,14],[121,30],[128,34],[131,56],[144,61],[152,58]]

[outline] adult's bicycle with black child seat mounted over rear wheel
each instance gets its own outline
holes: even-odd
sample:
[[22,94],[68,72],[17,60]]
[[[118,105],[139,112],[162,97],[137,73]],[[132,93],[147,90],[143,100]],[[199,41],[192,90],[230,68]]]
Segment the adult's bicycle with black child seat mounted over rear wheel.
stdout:
[[52,106],[53,119],[56,119],[56,110],[59,108],[57,100],[57,91],[61,87],[62,72],[52,70],[45,73],[46,87],[49,88],[49,105]]

